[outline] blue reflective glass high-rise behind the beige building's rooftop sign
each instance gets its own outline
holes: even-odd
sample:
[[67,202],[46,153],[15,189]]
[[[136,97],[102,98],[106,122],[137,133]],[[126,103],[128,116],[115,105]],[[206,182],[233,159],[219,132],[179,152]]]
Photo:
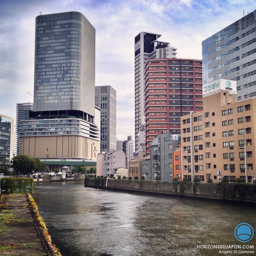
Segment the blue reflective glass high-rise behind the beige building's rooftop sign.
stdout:
[[256,10],[202,42],[203,83],[237,81],[238,100],[256,96]]

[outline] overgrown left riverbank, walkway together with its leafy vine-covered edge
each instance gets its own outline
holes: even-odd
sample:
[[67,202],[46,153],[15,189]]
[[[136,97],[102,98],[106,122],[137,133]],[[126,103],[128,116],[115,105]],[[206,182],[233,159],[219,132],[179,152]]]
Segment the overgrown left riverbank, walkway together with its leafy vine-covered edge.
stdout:
[[[38,236],[46,233],[40,226],[43,222],[26,194],[8,194],[1,196],[0,203],[0,255],[58,255],[48,238]],[[34,216],[33,216],[34,215]],[[37,223],[37,224],[36,224]],[[54,248],[53,248],[54,247]],[[46,253],[47,251],[47,253]],[[57,254],[54,254],[54,252]]]

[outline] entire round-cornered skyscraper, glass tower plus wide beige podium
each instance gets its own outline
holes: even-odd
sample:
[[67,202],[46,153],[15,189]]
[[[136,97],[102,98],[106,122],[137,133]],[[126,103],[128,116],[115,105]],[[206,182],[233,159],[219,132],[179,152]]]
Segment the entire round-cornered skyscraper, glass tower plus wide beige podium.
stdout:
[[34,119],[20,122],[20,154],[96,159],[94,98],[95,28],[79,12],[37,16]]

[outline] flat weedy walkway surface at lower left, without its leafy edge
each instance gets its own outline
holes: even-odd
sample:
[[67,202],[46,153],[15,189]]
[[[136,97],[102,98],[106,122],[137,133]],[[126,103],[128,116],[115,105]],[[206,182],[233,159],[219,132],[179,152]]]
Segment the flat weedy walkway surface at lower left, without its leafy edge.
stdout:
[[46,255],[25,194],[9,194],[0,211],[0,256]]

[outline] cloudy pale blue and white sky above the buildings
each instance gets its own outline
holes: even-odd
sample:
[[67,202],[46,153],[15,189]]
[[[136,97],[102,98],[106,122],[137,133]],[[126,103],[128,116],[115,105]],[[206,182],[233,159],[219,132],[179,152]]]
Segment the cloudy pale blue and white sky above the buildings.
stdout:
[[178,58],[201,59],[203,40],[255,9],[255,0],[0,0],[0,114],[15,118],[17,102],[33,102],[40,12],[82,12],[96,29],[95,84],[116,90],[124,139],[134,138],[134,36],[158,32]]

